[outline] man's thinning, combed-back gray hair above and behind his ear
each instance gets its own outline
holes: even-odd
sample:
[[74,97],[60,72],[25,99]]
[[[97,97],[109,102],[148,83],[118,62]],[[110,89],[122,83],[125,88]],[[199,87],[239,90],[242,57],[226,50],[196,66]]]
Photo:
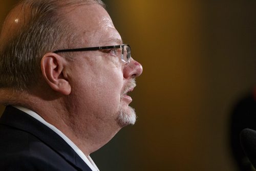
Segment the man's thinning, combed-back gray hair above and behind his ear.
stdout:
[[11,32],[11,11],[0,34],[0,88],[28,90],[36,86],[41,77],[40,60],[44,54],[78,46],[79,33],[61,11],[86,4],[99,4],[105,8],[100,0],[21,1],[15,8],[20,11],[17,15],[22,16],[23,25]]

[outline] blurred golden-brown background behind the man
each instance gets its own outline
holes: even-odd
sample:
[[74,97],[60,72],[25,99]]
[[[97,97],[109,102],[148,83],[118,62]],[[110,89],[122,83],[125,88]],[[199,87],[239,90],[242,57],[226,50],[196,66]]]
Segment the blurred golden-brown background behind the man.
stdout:
[[[1,23],[16,2],[1,1]],[[144,71],[138,121],[91,155],[99,169],[238,170],[230,118],[256,86],[256,1],[104,2]]]

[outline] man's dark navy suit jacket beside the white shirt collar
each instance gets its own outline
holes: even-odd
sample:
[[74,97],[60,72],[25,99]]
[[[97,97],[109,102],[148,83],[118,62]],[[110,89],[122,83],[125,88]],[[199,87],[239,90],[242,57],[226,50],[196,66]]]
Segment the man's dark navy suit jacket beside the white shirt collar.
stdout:
[[12,106],[0,119],[0,170],[91,171],[59,135]]

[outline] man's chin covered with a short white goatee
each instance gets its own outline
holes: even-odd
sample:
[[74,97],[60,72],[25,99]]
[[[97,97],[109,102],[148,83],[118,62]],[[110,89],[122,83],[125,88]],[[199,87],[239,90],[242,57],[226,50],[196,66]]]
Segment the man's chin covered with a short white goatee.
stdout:
[[127,106],[125,109],[122,107],[119,110],[119,114],[117,116],[117,123],[119,126],[124,127],[126,125],[135,124],[137,119],[135,109],[131,106]]

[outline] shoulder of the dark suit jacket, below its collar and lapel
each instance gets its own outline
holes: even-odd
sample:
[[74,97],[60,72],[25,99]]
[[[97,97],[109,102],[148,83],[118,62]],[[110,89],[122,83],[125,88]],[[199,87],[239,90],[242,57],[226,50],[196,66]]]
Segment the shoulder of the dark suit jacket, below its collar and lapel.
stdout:
[[0,124],[0,170],[74,170],[32,134]]

